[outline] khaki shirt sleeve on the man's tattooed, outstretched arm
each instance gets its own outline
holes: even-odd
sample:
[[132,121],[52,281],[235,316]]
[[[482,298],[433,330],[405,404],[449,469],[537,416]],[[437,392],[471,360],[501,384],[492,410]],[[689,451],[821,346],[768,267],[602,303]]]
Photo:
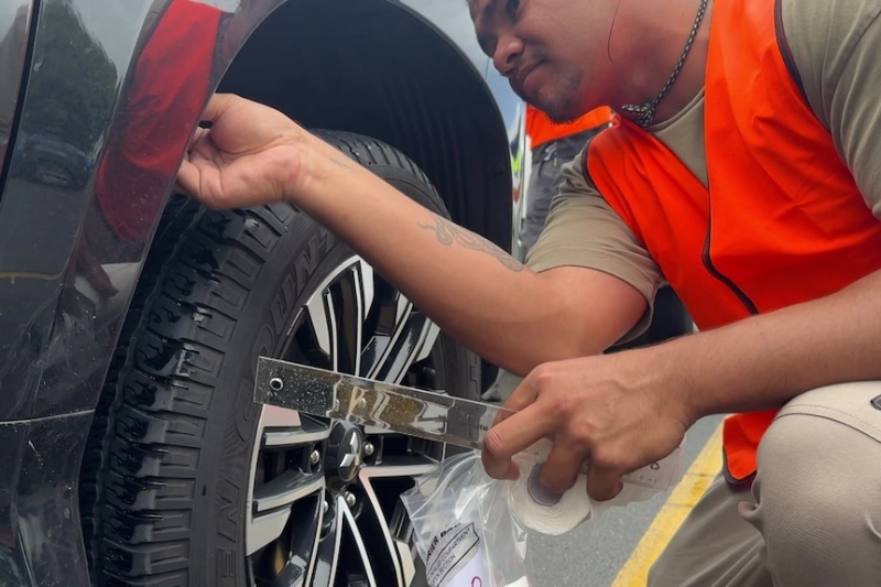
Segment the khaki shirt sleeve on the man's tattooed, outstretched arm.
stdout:
[[602,271],[635,287],[648,302],[639,324],[620,343],[638,337],[652,318],[654,297],[663,282],[649,251],[585,176],[586,150],[564,165],[563,184],[547,222],[526,264],[535,272],[559,267]]

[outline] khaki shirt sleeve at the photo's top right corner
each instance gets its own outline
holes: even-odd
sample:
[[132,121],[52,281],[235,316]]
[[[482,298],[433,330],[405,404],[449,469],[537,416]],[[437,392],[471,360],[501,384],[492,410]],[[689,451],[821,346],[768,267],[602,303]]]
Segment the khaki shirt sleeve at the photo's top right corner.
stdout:
[[807,101],[881,219],[881,1],[780,1]]

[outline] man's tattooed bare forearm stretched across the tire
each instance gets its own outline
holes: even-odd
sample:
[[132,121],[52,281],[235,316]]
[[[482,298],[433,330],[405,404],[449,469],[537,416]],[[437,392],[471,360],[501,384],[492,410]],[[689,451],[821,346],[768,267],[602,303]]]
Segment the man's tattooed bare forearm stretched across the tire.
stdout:
[[328,159],[335,170],[301,189],[296,205],[482,357],[525,373],[540,362],[598,352],[627,329],[585,334],[565,289],[341,155]]

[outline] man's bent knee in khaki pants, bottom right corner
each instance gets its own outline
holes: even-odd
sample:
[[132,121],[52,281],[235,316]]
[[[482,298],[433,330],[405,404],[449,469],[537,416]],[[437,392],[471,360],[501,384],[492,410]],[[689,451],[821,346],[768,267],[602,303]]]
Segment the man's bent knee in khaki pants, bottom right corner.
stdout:
[[881,562],[881,411],[870,404],[878,394],[879,383],[808,392],[765,433],[758,504],[742,513],[762,533],[775,576],[837,573],[871,554]]

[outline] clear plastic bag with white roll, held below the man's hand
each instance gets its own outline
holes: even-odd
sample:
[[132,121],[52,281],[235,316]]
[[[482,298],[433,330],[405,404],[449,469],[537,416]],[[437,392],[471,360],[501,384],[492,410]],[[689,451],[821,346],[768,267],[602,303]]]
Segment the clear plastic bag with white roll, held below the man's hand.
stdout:
[[562,534],[610,507],[624,507],[666,491],[682,479],[685,438],[667,457],[626,475],[613,499],[592,501],[586,472],[561,496],[539,485],[552,448],[542,439],[514,456],[516,481],[490,478],[479,452],[448,458],[401,496],[425,562],[428,587],[529,587],[526,529]]

